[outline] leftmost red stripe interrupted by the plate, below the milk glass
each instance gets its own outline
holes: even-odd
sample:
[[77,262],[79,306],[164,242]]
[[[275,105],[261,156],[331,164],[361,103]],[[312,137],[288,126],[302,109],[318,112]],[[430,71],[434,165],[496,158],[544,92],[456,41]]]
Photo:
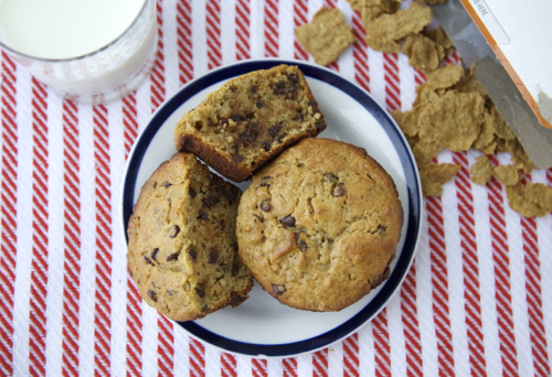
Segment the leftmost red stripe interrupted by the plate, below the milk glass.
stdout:
[[[138,134],[138,109],[136,94],[123,98],[123,125],[125,160]],[[127,276],[127,376],[141,375],[141,299],[130,274]]]

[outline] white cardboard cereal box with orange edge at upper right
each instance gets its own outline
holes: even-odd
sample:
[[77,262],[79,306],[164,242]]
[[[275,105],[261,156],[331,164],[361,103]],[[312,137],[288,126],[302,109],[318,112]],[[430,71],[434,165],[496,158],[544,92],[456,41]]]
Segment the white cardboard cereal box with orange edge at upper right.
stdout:
[[539,122],[552,128],[552,1],[460,1]]

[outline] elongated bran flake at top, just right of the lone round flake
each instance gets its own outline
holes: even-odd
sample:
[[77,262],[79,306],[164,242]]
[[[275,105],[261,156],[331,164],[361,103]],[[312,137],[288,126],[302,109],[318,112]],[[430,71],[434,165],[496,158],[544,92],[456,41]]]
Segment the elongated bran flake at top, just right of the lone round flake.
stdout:
[[399,10],[394,14],[382,14],[364,23],[367,44],[384,53],[399,53],[401,46],[396,41],[411,33],[421,32],[432,19],[431,8],[413,2],[406,10]]

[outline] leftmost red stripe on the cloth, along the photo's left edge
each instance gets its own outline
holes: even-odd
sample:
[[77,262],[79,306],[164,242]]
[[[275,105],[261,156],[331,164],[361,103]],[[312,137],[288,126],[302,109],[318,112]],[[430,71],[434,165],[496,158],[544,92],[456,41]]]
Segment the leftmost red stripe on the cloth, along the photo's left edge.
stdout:
[[15,282],[17,205],[18,205],[18,123],[15,103],[15,64],[2,51],[2,68],[0,79],[0,117],[2,125],[2,208],[0,235],[0,374],[13,374],[13,290]]

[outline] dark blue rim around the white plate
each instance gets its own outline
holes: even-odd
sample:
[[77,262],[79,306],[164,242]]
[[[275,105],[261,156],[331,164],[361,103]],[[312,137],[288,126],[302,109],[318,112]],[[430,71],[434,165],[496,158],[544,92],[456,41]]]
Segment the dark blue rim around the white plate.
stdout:
[[[299,61],[285,60],[261,60],[245,61],[233,65],[224,66],[215,71],[211,71],[204,76],[201,76],[188,85],[183,86],[173,97],[169,98],[153,114],[142,133],[138,137],[130,157],[127,162],[126,176],[123,182],[123,227],[126,229],[126,224],[130,217],[134,204],[134,193],[138,171],[146,153],[150,140],[153,139],[157,131],[162,127],[164,121],[177,110],[183,103],[194,96],[198,91],[225,80],[231,77],[243,75],[252,71],[268,69],[279,64],[297,65],[307,77],[322,80],[348,94],[360,105],[362,105],[380,123],[388,133],[389,138],[395,147],[396,153],[401,159],[401,164],[404,172],[406,192],[408,200],[408,217],[405,218],[406,235],[404,239],[403,250],[396,260],[395,268],[384,286],[378,294],[355,315],[342,323],[341,325],[315,337],[286,344],[255,344],[234,341],[219,334],[215,334],[195,322],[177,322],[185,328],[192,336],[206,342],[215,347],[233,354],[247,355],[253,357],[289,357],[329,346],[346,336],[358,331],[360,326],[375,316],[386,304],[389,299],[401,286],[406,277],[408,268],[414,259],[415,248],[418,240],[421,222],[422,222],[422,193],[420,177],[412,152],[405,141],[399,127],[395,125],[391,116],[381,108],[380,105],[361,87],[348,79],[339,76],[330,69]],[[125,231],[126,241],[128,236]]]

